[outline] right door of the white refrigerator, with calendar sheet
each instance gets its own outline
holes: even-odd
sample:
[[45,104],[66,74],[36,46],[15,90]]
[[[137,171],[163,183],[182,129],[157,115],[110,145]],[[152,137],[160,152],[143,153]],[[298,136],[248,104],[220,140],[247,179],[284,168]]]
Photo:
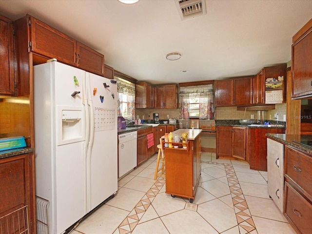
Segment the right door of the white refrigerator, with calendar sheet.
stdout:
[[[88,212],[117,192],[117,84],[86,74],[90,105]],[[108,87],[109,86],[109,87]]]

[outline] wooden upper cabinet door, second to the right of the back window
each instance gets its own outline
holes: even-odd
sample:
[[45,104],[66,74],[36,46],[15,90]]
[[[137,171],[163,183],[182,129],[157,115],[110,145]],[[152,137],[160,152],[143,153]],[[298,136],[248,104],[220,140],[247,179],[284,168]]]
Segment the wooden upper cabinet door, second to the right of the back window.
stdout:
[[235,106],[253,104],[253,77],[233,79],[233,104]]

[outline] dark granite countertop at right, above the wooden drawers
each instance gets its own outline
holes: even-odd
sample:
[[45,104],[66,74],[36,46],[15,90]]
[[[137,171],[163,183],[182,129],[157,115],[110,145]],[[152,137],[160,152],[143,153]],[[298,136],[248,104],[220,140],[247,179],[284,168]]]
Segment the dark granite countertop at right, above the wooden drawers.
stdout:
[[[306,153],[308,155],[312,156],[312,147],[305,146],[296,142],[301,141],[312,141],[312,135],[294,135],[294,134],[269,134],[267,133],[266,136],[270,139],[273,139],[277,142],[280,142],[284,145],[290,146],[292,148],[295,148],[303,153]],[[296,142],[294,142],[296,141]]]

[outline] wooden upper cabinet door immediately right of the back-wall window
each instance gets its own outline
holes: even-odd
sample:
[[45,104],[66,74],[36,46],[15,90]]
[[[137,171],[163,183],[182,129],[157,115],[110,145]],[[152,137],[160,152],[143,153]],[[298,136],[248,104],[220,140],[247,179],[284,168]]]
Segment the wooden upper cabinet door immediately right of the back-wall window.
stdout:
[[215,80],[215,106],[233,104],[233,79]]

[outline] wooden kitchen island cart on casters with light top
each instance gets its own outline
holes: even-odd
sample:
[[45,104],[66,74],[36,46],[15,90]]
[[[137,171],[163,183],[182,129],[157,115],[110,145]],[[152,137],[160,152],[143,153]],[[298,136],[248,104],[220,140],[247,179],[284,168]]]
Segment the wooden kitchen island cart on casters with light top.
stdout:
[[[201,173],[201,129],[178,129],[173,134],[188,134],[186,149],[164,147],[166,194],[189,198],[193,203]],[[162,141],[164,146],[165,142]],[[179,143],[181,144],[181,143]]]

